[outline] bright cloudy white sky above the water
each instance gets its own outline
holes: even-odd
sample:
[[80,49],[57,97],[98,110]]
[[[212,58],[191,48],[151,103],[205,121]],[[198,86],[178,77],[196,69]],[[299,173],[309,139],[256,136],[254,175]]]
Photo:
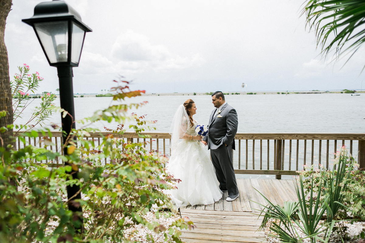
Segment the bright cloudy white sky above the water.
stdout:
[[[100,93],[121,75],[147,93],[358,89],[365,79],[362,47],[349,63],[323,60],[300,17],[304,0],[69,0],[92,28],[75,93]],[[33,29],[21,20],[39,0],[13,0],[5,30],[10,75],[27,63],[58,87]],[[365,82],[363,83],[365,89]]]

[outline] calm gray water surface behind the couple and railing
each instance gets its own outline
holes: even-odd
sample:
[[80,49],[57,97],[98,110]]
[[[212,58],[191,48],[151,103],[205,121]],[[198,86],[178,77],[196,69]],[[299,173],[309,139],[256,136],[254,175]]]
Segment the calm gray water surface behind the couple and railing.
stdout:
[[[158,132],[168,132],[177,107],[191,98],[197,106],[194,118],[200,124],[207,124],[214,109],[209,95],[144,96],[131,98],[131,103],[148,101],[138,110],[146,119],[157,120],[154,125]],[[29,107],[39,104],[34,99]],[[238,132],[246,133],[363,133],[365,132],[365,94],[266,94],[266,95],[226,95],[226,101],[237,110]],[[76,119],[89,117],[94,111],[111,104],[110,97],[74,98]],[[59,106],[59,99],[56,100]],[[17,120],[23,124],[24,119]],[[61,124],[61,115],[54,114],[46,126],[54,122]],[[116,123],[99,122],[92,127],[104,130],[104,126],[115,128]],[[81,127],[80,124],[76,125]]]

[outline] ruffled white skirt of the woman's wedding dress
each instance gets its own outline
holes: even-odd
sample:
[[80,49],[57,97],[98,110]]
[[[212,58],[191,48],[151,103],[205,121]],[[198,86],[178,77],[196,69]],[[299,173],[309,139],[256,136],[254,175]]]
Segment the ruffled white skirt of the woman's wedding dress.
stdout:
[[180,142],[170,157],[167,170],[175,179],[181,180],[176,184],[177,189],[165,191],[177,208],[212,204],[222,198],[213,164],[201,142]]

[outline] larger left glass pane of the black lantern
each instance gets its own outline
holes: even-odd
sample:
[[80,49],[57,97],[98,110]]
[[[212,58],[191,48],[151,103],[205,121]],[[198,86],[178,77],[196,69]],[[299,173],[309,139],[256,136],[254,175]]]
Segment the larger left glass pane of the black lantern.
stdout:
[[34,23],[50,63],[67,62],[68,21]]

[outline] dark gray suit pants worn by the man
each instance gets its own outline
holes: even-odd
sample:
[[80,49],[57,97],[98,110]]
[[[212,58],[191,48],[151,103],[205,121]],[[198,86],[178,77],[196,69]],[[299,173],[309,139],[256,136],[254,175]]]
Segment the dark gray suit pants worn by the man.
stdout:
[[218,149],[211,149],[210,156],[220,188],[222,190],[227,188],[228,195],[238,194],[237,181],[232,163],[232,145],[226,146],[223,144]]

